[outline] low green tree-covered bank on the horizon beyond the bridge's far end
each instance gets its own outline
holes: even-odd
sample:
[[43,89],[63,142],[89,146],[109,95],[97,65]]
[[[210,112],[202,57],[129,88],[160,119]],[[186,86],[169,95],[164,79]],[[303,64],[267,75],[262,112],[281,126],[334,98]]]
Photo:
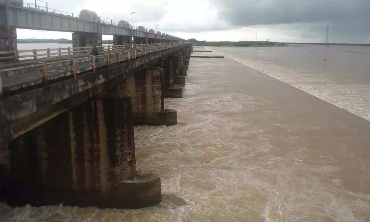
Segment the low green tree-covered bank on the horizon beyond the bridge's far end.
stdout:
[[196,46],[237,46],[237,47],[249,47],[249,46],[286,46],[284,43],[273,43],[269,41],[198,41],[194,38],[188,40]]

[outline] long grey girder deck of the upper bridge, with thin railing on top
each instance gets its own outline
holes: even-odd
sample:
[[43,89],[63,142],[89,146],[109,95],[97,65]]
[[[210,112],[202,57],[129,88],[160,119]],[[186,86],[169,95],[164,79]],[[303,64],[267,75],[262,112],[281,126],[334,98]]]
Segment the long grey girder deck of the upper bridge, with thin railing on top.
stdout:
[[88,21],[77,17],[77,14],[66,13],[60,10],[50,9],[48,6],[36,6],[24,3],[23,6],[9,4],[4,7],[0,1],[0,14],[6,14],[7,19],[0,16],[0,25],[27,28],[34,30],[65,31],[65,32],[88,32],[103,35],[134,36],[146,38],[168,39],[171,41],[181,40],[171,35],[158,35],[149,33],[148,30],[138,30],[138,27],[122,27],[112,23],[111,19],[104,17],[96,21]]

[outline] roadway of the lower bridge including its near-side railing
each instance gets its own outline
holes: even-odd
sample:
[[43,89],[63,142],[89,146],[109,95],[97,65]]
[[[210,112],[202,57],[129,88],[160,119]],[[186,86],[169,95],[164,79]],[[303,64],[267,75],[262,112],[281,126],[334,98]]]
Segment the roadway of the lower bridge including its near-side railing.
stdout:
[[39,61],[28,61],[11,64],[12,67],[0,70],[2,93],[21,90],[38,84],[44,84],[46,81],[57,80],[71,75],[77,75],[85,71],[94,70],[113,63],[141,57],[155,53],[167,48],[178,46],[179,44],[152,44],[145,47],[137,47],[130,50],[104,51],[102,55],[89,56],[71,55],[70,57]]

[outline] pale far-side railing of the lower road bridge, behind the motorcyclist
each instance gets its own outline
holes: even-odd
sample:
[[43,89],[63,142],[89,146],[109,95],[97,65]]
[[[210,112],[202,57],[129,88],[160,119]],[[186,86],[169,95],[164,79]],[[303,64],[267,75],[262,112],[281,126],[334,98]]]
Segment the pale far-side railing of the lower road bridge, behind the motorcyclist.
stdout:
[[[142,47],[155,47],[166,43],[155,43],[155,44],[134,44],[134,45],[110,45],[100,46],[101,52],[109,52],[116,50],[128,50],[131,48],[142,48]],[[44,49],[30,49],[30,50],[16,50],[16,51],[0,51],[0,54],[14,54],[14,56],[0,57],[4,60],[40,60],[44,58],[57,58],[66,55],[83,55],[89,54],[92,47],[68,47],[68,48],[44,48]]]

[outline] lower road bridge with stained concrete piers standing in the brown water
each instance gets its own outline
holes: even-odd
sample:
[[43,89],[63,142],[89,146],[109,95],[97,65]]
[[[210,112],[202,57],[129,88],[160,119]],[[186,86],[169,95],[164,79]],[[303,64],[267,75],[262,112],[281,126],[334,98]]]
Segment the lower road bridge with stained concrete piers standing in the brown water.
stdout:
[[133,127],[177,124],[164,98],[182,97],[191,45],[109,46],[97,56],[77,50],[0,63],[0,201],[159,203],[160,177],[136,169]]

